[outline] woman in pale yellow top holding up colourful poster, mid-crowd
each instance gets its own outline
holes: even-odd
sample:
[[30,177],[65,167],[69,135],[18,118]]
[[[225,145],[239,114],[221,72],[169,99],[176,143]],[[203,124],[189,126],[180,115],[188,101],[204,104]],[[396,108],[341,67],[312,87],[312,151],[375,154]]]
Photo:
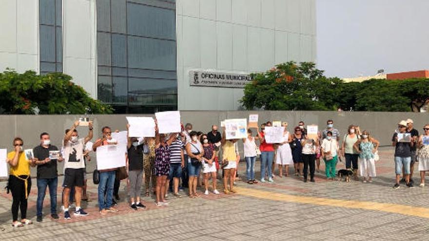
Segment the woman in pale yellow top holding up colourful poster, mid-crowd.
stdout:
[[[239,156],[237,155],[237,151],[235,149],[235,143],[238,139],[227,140],[225,128],[223,129],[222,135],[222,168],[224,170],[223,177],[223,192],[225,194],[229,194],[230,192],[236,193],[237,191],[234,189],[234,179],[235,179],[235,169],[237,168],[237,159]],[[228,190],[228,180],[230,182],[230,189]]]

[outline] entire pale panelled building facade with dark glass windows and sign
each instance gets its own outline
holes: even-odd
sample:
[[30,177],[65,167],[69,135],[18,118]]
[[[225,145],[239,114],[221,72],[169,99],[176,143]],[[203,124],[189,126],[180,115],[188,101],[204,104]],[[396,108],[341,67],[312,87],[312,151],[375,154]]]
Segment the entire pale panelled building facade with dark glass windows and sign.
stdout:
[[246,75],[316,60],[315,19],[315,0],[4,0],[0,71],[69,74],[117,113],[238,110]]

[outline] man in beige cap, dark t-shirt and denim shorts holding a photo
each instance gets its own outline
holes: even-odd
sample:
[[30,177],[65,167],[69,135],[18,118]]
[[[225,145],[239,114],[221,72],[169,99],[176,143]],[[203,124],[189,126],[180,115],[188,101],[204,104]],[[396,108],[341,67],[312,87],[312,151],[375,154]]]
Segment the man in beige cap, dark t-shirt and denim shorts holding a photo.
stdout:
[[[414,145],[414,142],[401,141],[399,135],[405,136],[407,133],[407,122],[402,120],[398,123],[399,133],[394,133],[392,137],[392,146],[395,147],[395,173],[396,173],[396,183],[393,185],[393,188],[399,188],[399,181],[401,179],[402,167],[404,167],[405,172],[405,182],[408,187],[412,187],[412,183],[409,182],[409,165],[411,163],[411,147]],[[405,138],[404,138],[405,139]]]

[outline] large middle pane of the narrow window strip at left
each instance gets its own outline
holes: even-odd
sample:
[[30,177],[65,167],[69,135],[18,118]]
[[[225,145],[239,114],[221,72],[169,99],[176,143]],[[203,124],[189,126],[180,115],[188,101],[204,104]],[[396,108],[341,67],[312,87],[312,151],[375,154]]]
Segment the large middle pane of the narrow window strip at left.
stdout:
[[40,61],[55,62],[55,28],[40,25]]

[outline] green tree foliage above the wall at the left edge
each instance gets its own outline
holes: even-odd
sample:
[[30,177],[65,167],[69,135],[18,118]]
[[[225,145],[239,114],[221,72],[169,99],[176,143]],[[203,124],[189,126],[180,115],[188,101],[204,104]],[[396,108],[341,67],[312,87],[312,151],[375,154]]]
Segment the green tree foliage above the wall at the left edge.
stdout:
[[89,96],[67,74],[0,73],[0,113],[107,114],[112,108]]

